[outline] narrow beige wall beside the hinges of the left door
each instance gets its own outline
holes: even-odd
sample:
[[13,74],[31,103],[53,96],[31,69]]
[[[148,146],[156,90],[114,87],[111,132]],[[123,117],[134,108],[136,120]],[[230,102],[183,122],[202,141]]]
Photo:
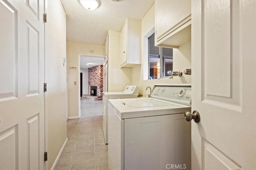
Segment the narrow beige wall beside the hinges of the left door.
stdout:
[[62,64],[62,57],[66,57],[66,14],[59,0],[48,1],[46,13],[46,149],[47,169],[51,169],[67,139],[66,65]]

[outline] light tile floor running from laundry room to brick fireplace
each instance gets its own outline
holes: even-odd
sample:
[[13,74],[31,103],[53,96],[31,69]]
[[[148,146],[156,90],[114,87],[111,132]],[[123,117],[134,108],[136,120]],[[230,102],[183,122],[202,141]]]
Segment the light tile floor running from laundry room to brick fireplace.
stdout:
[[68,143],[55,170],[108,170],[102,111],[102,100],[81,98],[81,117],[67,121]]

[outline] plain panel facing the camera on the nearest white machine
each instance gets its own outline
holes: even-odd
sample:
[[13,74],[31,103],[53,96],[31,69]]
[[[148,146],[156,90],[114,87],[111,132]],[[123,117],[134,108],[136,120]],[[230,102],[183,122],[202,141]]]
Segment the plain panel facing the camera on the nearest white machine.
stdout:
[[124,119],[124,169],[190,169],[190,126],[184,113]]

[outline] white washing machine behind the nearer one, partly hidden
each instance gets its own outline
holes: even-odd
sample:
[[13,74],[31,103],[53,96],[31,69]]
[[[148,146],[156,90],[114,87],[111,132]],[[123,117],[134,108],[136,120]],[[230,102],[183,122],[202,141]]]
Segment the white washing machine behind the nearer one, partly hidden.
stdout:
[[138,95],[137,86],[126,86],[124,91],[120,92],[103,92],[103,134],[106,144],[108,144],[108,99],[137,98]]

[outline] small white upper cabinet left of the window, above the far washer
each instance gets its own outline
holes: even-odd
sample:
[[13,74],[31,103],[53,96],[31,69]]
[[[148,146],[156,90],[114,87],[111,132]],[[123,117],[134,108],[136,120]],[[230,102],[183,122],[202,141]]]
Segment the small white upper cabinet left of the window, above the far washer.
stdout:
[[127,18],[120,32],[120,67],[141,64],[141,20]]

